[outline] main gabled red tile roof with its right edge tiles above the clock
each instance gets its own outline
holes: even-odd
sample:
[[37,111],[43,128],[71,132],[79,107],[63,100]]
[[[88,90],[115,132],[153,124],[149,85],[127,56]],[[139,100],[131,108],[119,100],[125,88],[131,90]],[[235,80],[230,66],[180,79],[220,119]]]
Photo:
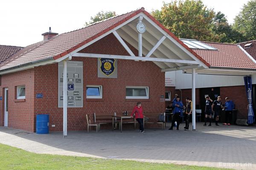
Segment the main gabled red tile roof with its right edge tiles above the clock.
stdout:
[[19,53],[13,55],[6,59],[6,61],[0,64],[0,70],[6,68],[12,68],[17,65],[23,65],[28,62],[35,62],[41,59],[47,59],[53,57],[53,59],[58,59],[64,55],[74,51],[75,49],[85,45],[86,43],[92,41],[93,39],[105,34],[106,32],[112,30],[116,26],[129,20],[131,17],[143,12],[151,20],[153,20],[160,28],[166,31],[171,37],[173,37],[177,42],[183,45],[188,51],[195,55],[198,59],[209,66],[209,64],[202,59],[198,54],[188,48],[183,44],[174,34],[172,34],[168,29],[166,29],[162,24],[154,19],[144,8],[138,9],[136,11],[131,11],[127,14],[122,14],[111,19],[95,23],[93,25],[81,28],[76,31],[67,32],[64,34],[57,35],[50,38],[49,40],[41,41],[33,45],[29,45],[23,48]]

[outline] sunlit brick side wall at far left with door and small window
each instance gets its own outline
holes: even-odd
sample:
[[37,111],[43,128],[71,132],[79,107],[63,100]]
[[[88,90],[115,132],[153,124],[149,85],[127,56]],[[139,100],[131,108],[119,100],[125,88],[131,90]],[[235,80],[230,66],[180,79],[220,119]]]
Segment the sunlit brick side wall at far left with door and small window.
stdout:
[[[26,99],[17,99],[17,86],[25,85]],[[4,89],[8,88],[8,126],[33,131],[34,125],[34,71],[15,72],[2,76],[0,86],[0,126],[4,125]]]

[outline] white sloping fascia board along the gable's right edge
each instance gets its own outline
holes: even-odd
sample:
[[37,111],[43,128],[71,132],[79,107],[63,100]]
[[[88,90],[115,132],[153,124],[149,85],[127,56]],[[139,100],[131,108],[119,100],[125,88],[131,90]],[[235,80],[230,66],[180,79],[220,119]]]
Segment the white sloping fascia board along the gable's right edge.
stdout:
[[204,68],[209,68],[207,65],[204,64],[204,62],[200,61],[197,57],[195,57],[190,51],[188,51],[183,45],[181,45],[179,42],[177,42],[174,38],[172,38],[166,31],[164,31],[160,26],[158,26],[154,21],[152,21],[148,16],[146,16],[144,13],[142,13],[143,18],[147,20],[149,23],[151,23],[155,28],[157,28],[158,31],[160,31],[163,35],[169,38],[172,42],[175,43],[179,48],[181,48],[186,54],[188,54],[190,57],[195,59],[197,61],[197,64],[202,65]]

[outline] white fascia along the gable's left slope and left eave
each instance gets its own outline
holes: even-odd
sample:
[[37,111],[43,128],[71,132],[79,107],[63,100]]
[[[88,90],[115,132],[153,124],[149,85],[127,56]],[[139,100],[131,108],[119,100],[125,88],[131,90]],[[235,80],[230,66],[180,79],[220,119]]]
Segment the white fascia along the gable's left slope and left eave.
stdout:
[[20,68],[14,68],[14,69],[10,69],[10,70],[7,70],[7,71],[3,71],[1,72],[0,71],[0,75],[2,74],[9,74],[9,73],[13,73],[13,72],[16,72],[16,71],[22,71],[22,70],[26,70],[26,69],[29,69],[29,68],[34,68],[34,67],[37,67],[37,66],[40,66],[40,65],[48,65],[48,64],[53,64],[55,62],[61,62],[63,60],[66,60],[67,58],[71,58],[73,56],[73,54],[75,54],[76,52],[86,48],[87,46],[93,44],[94,42],[102,39],[103,37],[107,36],[108,34],[111,34],[113,33],[113,31],[116,31],[117,29],[121,28],[122,26],[126,25],[127,23],[130,23],[132,20],[135,20],[137,17],[140,17],[141,13],[135,15],[134,17],[131,17],[129,20],[125,21],[124,23],[120,24],[119,26],[113,28],[112,30],[106,32],[105,34],[102,34],[101,36],[95,38],[94,40],[88,42],[87,44],[84,44],[83,46],[77,48],[76,50],[70,52],[69,54],[66,54],[65,56],[61,57],[61,58],[58,58],[58,59],[52,59],[52,60],[49,60],[47,62],[38,62],[36,64],[32,64],[32,65],[27,65],[27,66],[23,66],[23,67],[20,67]]

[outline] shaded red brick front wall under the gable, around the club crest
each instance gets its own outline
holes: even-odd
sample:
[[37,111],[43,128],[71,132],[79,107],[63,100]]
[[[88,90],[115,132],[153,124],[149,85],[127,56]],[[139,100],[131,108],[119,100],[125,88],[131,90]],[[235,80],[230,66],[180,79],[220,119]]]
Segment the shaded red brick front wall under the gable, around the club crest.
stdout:
[[[131,45],[136,55],[138,52]],[[128,55],[113,34],[93,43],[81,52],[95,54]],[[142,102],[144,112],[161,113],[165,102],[160,101],[164,95],[165,74],[153,62],[137,62],[119,59],[118,78],[98,78],[97,59],[87,57],[73,57],[73,61],[82,61],[84,75],[84,107],[68,108],[68,130],[87,129],[86,114],[93,120],[93,113],[107,115],[121,114],[122,111],[131,113],[138,101]],[[86,99],[86,85],[102,85],[103,99]],[[125,86],[148,86],[149,99],[125,99]],[[42,93],[42,99],[35,99],[35,114],[50,114],[50,131],[63,129],[63,109],[58,108],[58,64],[45,65],[35,68],[35,94]],[[51,127],[55,125],[55,127]],[[35,124],[34,124],[35,127]],[[104,127],[103,127],[104,128]]]

